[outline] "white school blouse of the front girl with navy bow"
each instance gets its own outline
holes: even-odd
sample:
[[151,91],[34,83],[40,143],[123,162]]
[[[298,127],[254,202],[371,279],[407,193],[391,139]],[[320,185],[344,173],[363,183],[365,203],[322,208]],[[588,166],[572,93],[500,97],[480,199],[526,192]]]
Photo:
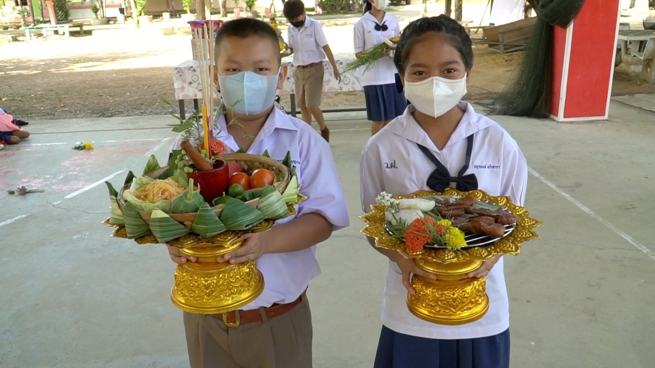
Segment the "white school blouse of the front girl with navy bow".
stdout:
[[[464,117],[443,150],[439,150],[412,117],[415,111],[407,106],[405,113],[392,120],[369,139],[360,162],[362,208],[371,211],[371,204],[382,191],[390,194],[411,194],[430,191],[426,181],[436,169],[420,151],[417,143],[427,147],[451,175],[464,166],[466,138],[474,135],[474,147],[466,174],[476,174],[478,187],[492,196],[510,196],[523,205],[527,185],[527,162],[516,141],[498,123],[477,114],[462,101]],[[402,284],[400,268],[389,262],[382,306],[383,324],[405,335],[428,339],[474,339],[497,335],[510,325],[509,303],[502,258],[486,276],[489,311],[476,322],[447,326],[426,322],[407,309],[407,289]]]

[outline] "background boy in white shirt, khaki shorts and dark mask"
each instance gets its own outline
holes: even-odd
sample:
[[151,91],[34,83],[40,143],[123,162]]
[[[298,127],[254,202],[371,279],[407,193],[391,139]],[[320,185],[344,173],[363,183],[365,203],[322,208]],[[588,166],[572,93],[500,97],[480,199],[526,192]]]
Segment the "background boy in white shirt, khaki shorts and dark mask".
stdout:
[[307,16],[305,4],[301,0],[288,0],[284,3],[283,12],[290,23],[287,39],[295,65],[293,83],[298,107],[307,124],[312,124],[312,116],[316,119],[321,136],[329,141],[329,129],[320,108],[325,56],[332,65],[334,77],[339,82],[341,82],[341,74],[337,69],[332,50],[327,45],[320,22]]

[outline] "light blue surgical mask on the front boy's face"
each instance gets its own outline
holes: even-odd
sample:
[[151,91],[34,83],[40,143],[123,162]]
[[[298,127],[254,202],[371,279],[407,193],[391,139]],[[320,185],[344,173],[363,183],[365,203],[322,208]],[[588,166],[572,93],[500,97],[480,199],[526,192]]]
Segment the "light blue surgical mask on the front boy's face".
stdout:
[[219,75],[221,98],[225,107],[241,115],[255,115],[273,104],[278,75],[260,75],[241,71],[233,75]]

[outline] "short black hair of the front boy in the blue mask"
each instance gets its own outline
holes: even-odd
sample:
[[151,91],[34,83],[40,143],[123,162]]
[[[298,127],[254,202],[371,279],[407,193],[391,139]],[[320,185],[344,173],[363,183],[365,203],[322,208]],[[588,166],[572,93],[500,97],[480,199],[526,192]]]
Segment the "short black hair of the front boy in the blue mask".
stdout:
[[[216,60],[218,60],[218,55],[221,52],[221,42],[223,42],[225,37],[245,39],[251,36],[270,40],[271,44],[274,45],[274,50],[280,50],[278,33],[272,28],[271,24],[256,18],[238,18],[221,24],[221,27],[218,29],[218,35],[214,44]],[[278,56],[278,63],[282,64],[280,52],[276,52],[276,54]]]

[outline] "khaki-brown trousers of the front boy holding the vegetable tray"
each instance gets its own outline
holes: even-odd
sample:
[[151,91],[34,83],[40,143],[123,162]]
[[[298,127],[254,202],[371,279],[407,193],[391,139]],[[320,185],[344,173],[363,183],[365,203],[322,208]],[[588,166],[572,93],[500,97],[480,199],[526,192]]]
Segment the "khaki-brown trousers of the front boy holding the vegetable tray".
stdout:
[[191,368],[311,368],[312,314],[307,295],[289,312],[227,327],[221,318],[184,312]]

